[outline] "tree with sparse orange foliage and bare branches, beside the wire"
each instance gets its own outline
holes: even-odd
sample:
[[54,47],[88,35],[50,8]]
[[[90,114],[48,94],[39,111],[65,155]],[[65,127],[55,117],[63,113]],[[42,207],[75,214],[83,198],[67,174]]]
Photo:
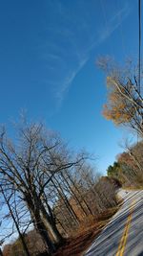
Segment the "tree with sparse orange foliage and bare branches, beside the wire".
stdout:
[[142,79],[132,62],[125,68],[118,67],[112,59],[99,58],[98,66],[107,74],[108,102],[103,115],[115,125],[124,125],[143,137]]

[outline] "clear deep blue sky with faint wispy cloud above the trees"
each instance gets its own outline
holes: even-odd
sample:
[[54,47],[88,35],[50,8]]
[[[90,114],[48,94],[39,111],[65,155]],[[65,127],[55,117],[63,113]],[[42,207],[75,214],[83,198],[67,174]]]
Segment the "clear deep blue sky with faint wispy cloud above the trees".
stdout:
[[128,133],[101,115],[107,92],[95,59],[136,58],[137,22],[137,0],[3,1],[0,122],[27,109],[73,149],[94,153],[105,174]]

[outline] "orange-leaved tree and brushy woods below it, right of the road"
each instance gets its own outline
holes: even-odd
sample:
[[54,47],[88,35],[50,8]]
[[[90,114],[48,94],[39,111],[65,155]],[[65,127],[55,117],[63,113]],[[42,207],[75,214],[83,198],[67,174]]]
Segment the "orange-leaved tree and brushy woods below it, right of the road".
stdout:
[[109,166],[108,176],[115,177],[125,188],[143,187],[143,84],[142,67],[132,60],[120,67],[112,58],[99,58],[98,66],[105,72],[107,103],[103,115],[115,126],[128,128],[137,135],[133,145],[124,142],[125,151]]

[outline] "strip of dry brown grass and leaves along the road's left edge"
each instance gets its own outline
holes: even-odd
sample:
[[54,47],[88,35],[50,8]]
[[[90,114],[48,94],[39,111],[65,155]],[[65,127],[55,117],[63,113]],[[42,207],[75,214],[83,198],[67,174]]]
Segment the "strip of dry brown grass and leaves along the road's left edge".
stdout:
[[82,256],[92,241],[100,234],[103,227],[110,221],[112,215],[118,210],[117,207],[106,210],[96,218],[91,218],[87,223],[84,221],[81,227],[75,231],[71,238],[58,249],[54,256]]

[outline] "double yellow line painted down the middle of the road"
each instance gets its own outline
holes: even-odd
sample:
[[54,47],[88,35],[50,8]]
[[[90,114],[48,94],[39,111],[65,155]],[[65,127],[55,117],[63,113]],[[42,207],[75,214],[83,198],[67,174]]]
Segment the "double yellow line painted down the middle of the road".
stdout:
[[125,246],[126,246],[127,238],[128,238],[128,234],[129,234],[129,229],[130,229],[130,225],[131,225],[131,221],[132,221],[134,203],[135,203],[135,200],[133,200],[133,202],[130,206],[130,214],[129,214],[127,222],[126,222],[124,232],[123,232],[123,235],[120,240],[120,244],[117,249],[116,256],[123,256],[123,254],[124,254]]

